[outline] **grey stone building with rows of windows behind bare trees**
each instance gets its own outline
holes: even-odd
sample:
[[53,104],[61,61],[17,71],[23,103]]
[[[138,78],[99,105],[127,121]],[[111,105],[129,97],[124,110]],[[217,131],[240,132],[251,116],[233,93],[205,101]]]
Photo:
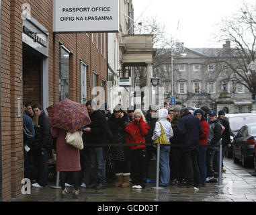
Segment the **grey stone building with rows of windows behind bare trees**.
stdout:
[[[226,42],[224,48],[230,43]],[[221,48],[183,48],[173,54],[173,95],[184,107],[208,105],[212,110],[229,113],[251,112],[255,108],[249,90],[237,83],[232,72],[218,63]],[[166,53],[169,54],[170,50]],[[169,54],[170,55],[170,54]],[[162,74],[165,99],[171,97],[171,56],[155,73]]]

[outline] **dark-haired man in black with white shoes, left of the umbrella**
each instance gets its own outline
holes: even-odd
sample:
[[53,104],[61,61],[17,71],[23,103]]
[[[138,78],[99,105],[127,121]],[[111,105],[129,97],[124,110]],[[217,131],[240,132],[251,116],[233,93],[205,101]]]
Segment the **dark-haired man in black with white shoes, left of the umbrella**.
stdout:
[[35,138],[32,149],[34,150],[34,173],[36,173],[36,183],[33,187],[45,187],[48,184],[48,148],[52,139],[50,131],[50,121],[42,110],[41,105],[33,105],[34,114],[38,116],[38,126],[35,129]]

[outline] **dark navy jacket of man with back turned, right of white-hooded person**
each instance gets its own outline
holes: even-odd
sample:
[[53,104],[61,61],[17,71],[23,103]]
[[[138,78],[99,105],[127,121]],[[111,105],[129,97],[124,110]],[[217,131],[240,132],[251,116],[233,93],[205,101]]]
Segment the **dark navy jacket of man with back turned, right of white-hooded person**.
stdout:
[[190,112],[185,113],[177,124],[177,129],[181,135],[181,147],[183,153],[198,148],[199,137],[203,133],[200,120]]

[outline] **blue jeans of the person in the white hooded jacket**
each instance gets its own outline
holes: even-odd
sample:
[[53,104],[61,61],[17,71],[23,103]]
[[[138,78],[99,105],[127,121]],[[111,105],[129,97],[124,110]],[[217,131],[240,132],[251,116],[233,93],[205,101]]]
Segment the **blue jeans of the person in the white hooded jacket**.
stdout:
[[161,146],[160,147],[160,185],[161,186],[168,186],[170,182],[170,146]]

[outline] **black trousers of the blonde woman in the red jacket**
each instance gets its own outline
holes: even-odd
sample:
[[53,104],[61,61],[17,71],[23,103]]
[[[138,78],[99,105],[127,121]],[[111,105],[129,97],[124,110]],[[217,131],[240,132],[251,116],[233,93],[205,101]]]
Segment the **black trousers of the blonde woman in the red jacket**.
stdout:
[[146,183],[146,148],[130,150],[132,183],[145,187]]

